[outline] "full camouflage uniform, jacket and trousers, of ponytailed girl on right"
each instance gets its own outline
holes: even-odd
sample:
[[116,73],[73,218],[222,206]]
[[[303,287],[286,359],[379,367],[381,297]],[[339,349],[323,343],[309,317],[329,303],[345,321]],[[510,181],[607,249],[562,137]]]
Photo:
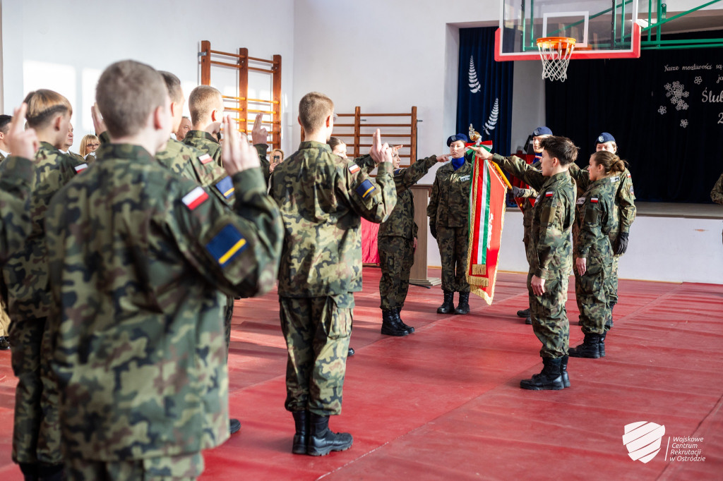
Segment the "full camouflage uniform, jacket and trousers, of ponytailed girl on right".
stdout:
[[609,317],[608,277],[612,274],[609,232],[615,224],[615,191],[620,179],[607,177],[590,184],[576,202],[575,259],[586,259],[586,271],[576,271],[576,296],[584,334],[604,334]]

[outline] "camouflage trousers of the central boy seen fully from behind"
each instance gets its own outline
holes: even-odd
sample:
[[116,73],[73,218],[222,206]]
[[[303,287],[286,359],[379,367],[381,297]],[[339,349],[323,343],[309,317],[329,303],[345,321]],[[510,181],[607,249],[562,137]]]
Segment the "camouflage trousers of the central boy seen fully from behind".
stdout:
[[354,295],[280,296],[279,305],[288,350],[286,410],[341,414]]

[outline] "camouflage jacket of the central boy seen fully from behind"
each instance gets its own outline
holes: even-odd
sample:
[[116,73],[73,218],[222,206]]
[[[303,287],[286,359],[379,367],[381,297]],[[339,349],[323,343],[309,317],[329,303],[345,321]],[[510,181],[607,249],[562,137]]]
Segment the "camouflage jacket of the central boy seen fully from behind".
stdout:
[[394,209],[391,162],[380,164],[375,180],[328,144],[301,142],[275,167],[270,194],[286,228],[278,294],[315,298],[361,290],[361,217],[379,223]]

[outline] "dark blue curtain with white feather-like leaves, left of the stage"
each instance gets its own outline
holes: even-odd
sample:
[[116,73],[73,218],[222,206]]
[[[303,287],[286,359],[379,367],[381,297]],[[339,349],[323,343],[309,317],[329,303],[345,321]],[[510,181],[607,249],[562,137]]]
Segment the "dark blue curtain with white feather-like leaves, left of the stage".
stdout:
[[457,132],[467,134],[471,123],[495,152],[510,155],[514,64],[495,61],[495,30],[459,30]]

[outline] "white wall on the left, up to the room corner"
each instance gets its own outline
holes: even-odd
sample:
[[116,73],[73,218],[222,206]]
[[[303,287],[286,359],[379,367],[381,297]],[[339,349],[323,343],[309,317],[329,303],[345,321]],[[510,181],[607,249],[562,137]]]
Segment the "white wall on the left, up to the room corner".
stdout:
[[[213,50],[247,47],[250,56],[282,56],[282,148],[291,147],[294,0],[3,0],[1,8],[4,113],[12,114],[30,90],[60,92],[73,106],[74,150],[93,132],[90,105],[108,64],[133,58],[171,71],[188,95],[200,84],[201,40]],[[221,79],[215,87],[235,92],[235,80],[215,77],[215,69],[212,83]]]

